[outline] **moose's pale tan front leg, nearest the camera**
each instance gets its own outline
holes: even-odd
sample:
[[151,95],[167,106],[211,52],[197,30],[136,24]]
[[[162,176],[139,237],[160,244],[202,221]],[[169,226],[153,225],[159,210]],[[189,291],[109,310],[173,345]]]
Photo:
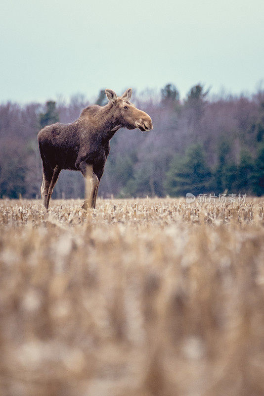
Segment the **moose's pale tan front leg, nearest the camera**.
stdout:
[[[93,172],[92,165],[88,165],[86,162],[81,162],[79,169],[86,179],[85,196],[86,201],[83,205],[84,209],[95,208],[95,194],[98,187],[98,177]],[[95,198],[95,199],[94,199]]]

